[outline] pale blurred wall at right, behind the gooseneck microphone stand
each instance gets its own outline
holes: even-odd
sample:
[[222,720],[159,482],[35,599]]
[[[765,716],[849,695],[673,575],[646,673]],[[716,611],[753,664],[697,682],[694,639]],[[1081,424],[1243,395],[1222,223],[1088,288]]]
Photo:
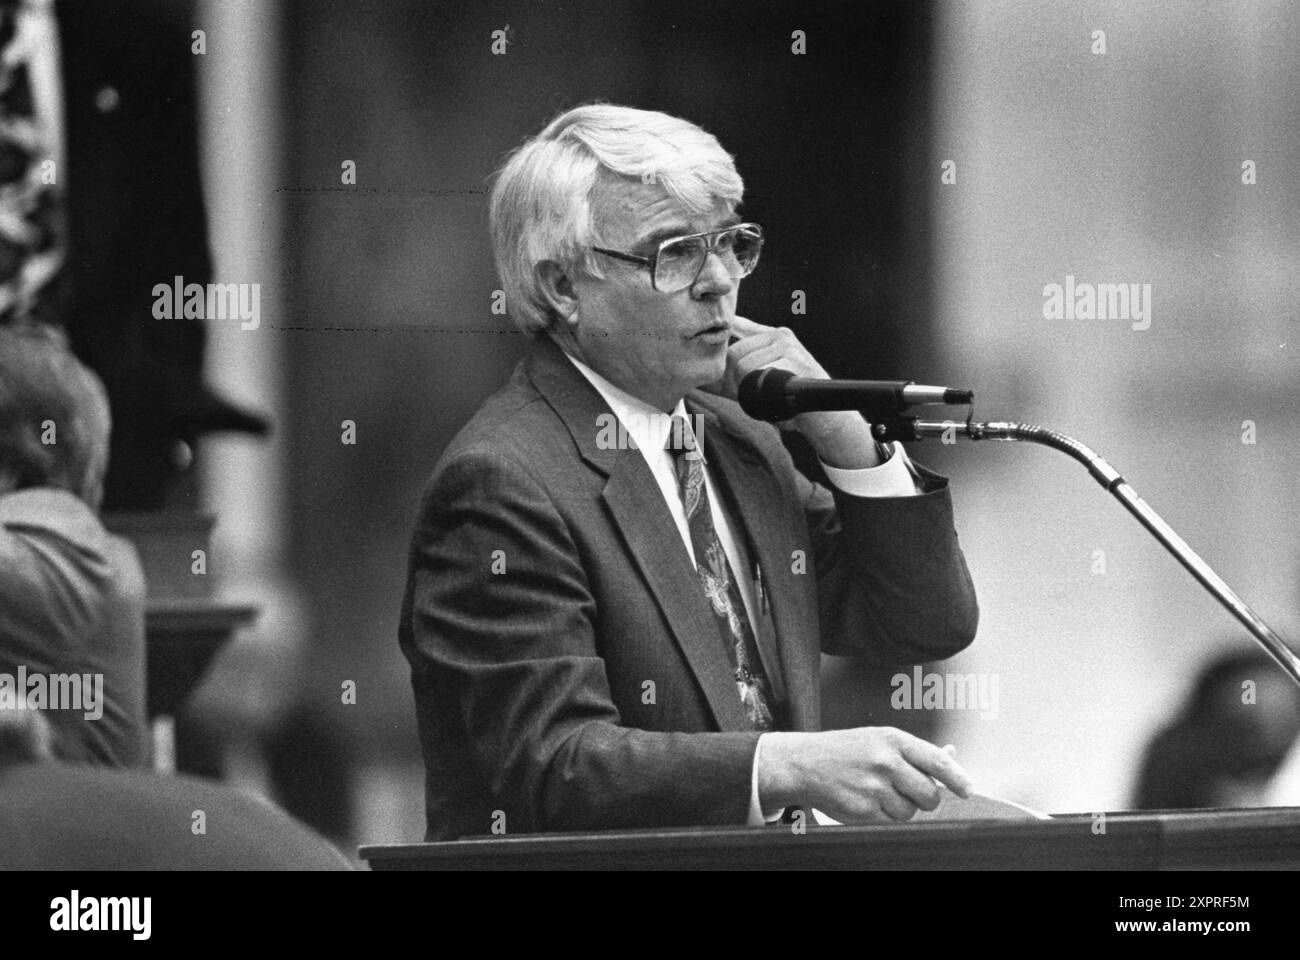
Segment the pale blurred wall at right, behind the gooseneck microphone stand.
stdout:
[[[932,208],[941,369],[982,416],[1093,446],[1294,645],[1300,12],[937,9],[932,161],[957,164]],[[1045,320],[1067,274],[1150,284],[1149,329]],[[953,669],[1001,676],[996,718],[953,714],[959,754],[1046,810],[1124,807],[1195,671],[1254,641],[1074,462],[944,453],[983,607]]]

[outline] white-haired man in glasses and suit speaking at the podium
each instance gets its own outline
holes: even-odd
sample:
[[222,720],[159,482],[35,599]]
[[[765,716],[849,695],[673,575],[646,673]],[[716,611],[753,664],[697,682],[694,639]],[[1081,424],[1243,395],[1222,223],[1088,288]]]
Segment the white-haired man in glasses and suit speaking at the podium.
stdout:
[[814,484],[736,403],[753,369],[827,377],[736,313],[763,246],[742,191],[705,130],[607,104],[497,177],[530,349],[428,483],[399,627],[430,840],[904,821],[968,790],[902,731],[818,732],[820,652],[932,662],[979,613],[946,479],[855,412],[801,414]]

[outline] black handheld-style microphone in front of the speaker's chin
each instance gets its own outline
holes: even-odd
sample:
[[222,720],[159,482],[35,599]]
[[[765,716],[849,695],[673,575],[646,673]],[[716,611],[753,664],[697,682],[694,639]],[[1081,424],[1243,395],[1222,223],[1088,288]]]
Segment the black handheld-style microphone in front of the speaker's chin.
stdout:
[[737,399],[755,420],[788,420],[818,410],[857,410],[874,420],[924,403],[971,403],[975,394],[952,386],[922,386],[911,380],[810,380],[763,367],[745,375]]

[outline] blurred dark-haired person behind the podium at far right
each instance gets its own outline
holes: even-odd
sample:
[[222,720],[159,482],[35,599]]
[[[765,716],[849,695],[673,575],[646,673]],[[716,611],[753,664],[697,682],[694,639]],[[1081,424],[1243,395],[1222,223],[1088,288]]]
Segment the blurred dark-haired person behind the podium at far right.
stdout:
[[1300,687],[1262,650],[1225,653],[1148,745],[1135,807],[1273,805],[1273,782],[1297,736]]

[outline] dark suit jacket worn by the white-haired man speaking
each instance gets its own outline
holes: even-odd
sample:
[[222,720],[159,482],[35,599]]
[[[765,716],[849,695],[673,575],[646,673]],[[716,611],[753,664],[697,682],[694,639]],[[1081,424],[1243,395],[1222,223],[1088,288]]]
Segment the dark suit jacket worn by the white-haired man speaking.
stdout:
[[[759,649],[784,728],[818,728],[819,650],[914,663],[971,641],[946,480],[832,494],[734,402],[693,390],[686,407],[763,571]],[[601,449],[602,414],[538,338],[429,481],[399,641],[430,839],[746,820],[758,732],[659,487],[638,450]]]

